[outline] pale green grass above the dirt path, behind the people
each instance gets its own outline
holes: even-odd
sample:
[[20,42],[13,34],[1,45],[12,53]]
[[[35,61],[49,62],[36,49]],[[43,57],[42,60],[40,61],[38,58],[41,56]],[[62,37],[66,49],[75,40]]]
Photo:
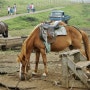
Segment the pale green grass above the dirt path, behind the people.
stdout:
[[0,16],[6,16],[7,7],[17,5],[17,14],[26,13],[27,5],[33,3],[36,10],[43,10],[52,7],[64,6],[69,2],[67,0],[0,0]]

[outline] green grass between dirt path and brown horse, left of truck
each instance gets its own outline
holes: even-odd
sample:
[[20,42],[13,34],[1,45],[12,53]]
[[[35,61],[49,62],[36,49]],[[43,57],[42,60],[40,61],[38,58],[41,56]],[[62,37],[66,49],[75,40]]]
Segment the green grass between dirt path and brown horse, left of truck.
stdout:
[[6,20],[9,26],[9,32],[12,36],[28,35],[33,28],[49,19],[49,12],[20,16],[14,19]]

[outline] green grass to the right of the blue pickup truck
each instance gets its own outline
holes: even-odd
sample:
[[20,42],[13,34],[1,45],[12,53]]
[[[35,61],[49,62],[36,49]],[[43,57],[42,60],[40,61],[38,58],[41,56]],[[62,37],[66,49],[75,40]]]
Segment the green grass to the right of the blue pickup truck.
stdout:
[[90,28],[90,4],[73,4],[63,10],[71,16],[70,25]]

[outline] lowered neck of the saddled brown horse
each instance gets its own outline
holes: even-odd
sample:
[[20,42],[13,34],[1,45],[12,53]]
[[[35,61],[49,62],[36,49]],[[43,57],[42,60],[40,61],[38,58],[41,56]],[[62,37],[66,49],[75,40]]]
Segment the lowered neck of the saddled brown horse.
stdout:
[[21,53],[19,54],[19,56],[21,57],[21,60],[23,57],[25,57],[27,60],[30,57],[30,54],[34,48],[34,39],[36,37],[38,33],[38,30],[35,29],[29,36],[28,38],[24,41],[23,45],[22,45],[22,49],[21,49]]

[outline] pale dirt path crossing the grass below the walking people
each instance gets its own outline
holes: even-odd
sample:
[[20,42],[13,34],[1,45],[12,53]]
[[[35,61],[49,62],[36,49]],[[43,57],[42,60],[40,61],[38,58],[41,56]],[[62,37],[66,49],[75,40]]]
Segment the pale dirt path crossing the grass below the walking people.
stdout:
[[41,11],[36,11],[34,13],[23,13],[23,14],[4,16],[4,17],[0,17],[0,21],[4,21],[4,20],[8,20],[8,19],[12,19],[12,18],[15,18],[15,17],[28,15],[28,14],[36,14],[36,13],[41,13],[41,12],[47,12],[47,11],[50,11],[50,10],[53,10],[53,9],[58,9],[58,8],[60,9],[60,8],[64,8],[64,7],[55,7],[55,8],[45,9],[45,10],[41,10]]

